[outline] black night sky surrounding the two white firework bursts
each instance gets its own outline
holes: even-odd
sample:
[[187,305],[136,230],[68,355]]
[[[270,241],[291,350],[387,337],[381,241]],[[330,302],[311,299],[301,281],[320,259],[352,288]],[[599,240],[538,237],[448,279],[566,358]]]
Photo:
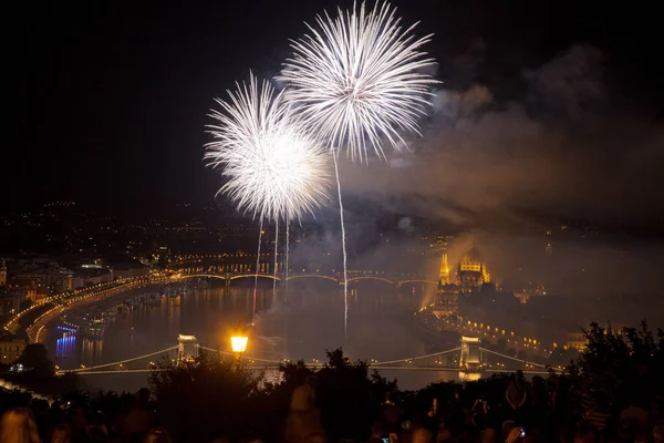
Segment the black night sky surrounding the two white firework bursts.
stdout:
[[[178,202],[211,202],[219,179],[203,166],[201,155],[212,99],[245,80],[250,69],[276,74],[288,54],[288,39],[304,30],[303,21],[313,21],[325,8],[352,4],[80,3],[30,3],[6,14],[12,31],[6,39],[10,81],[3,120],[9,135],[0,176],[8,207],[74,199],[84,207],[142,213]],[[439,61],[438,78],[445,82],[437,93],[437,114],[425,124],[423,155],[458,168],[456,175],[439,167],[425,171],[428,182],[401,187],[392,181],[393,192],[423,198],[428,209],[432,198],[460,205],[466,213],[494,200],[499,202],[494,206],[553,216],[662,224],[661,205],[653,204],[664,192],[658,144],[664,141],[664,76],[655,11],[605,1],[395,3],[406,23],[422,21],[418,33],[435,33],[427,49]],[[536,157],[523,128],[530,131]],[[603,137],[613,143],[599,146]],[[552,146],[539,143],[542,138],[564,142]],[[518,146],[506,147],[512,140]],[[459,151],[466,144],[470,147]],[[632,151],[639,158],[622,174],[624,155]],[[549,174],[548,156],[567,161],[568,155],[569,169],[553,164]],[[422,158],[408,162],[417,165]],[[530,174],[515,181],[523,168]],[[465,183],[468,175],[459,171],[471,171],[473,178]],[[352,174],[360,179],[347,192],[375,195],[363,179],[371,174]],[[438,179],[442,174],[446,181]],[[540,179],[543,175],[551,178]],[[589,185],[582,177],[595,186],[579,190]],[[598,185],[602,181],[612,182],[609,190]],[[505,183],[509,185],[502,189]],[[532,188],[541,197],[529,200],[523,195],[532,196]],[[646,196],[641,198],[639,189]],[[583,198],[572,198],[577,190]]]

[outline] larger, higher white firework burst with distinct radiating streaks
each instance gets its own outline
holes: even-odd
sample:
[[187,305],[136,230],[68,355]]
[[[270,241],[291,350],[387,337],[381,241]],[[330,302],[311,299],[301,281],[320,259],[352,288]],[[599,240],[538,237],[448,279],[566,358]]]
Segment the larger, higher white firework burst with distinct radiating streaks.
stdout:
[[435,61],[421,50],[432,35],[416,39],[417,23],[402,29],[395,12],[377,2],[369,13],[362,3],[359,12],[353,6],[335,18],[318,16],[317,28],[307,24],[310,33],[291,41],[281,72],[303,121],[351,159],[366,161],[369,148],[384,157],[383,137],[398,148],[400,133],[419,134],[437,83],[425,72]]

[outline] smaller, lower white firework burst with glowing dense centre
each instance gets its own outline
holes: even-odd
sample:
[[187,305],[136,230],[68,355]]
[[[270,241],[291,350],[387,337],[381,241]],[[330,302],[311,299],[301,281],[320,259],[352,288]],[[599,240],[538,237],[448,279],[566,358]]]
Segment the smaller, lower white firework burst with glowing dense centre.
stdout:
[[222,167],[227,194],[241,213],[262,222],[287,223],[313,213],[328,197],[329,157],[325,150],[293,119],[282,93],[268,81],[228,91],[229,101],[216,100],[220,111],[208,126],[214,141],[206,159]]

